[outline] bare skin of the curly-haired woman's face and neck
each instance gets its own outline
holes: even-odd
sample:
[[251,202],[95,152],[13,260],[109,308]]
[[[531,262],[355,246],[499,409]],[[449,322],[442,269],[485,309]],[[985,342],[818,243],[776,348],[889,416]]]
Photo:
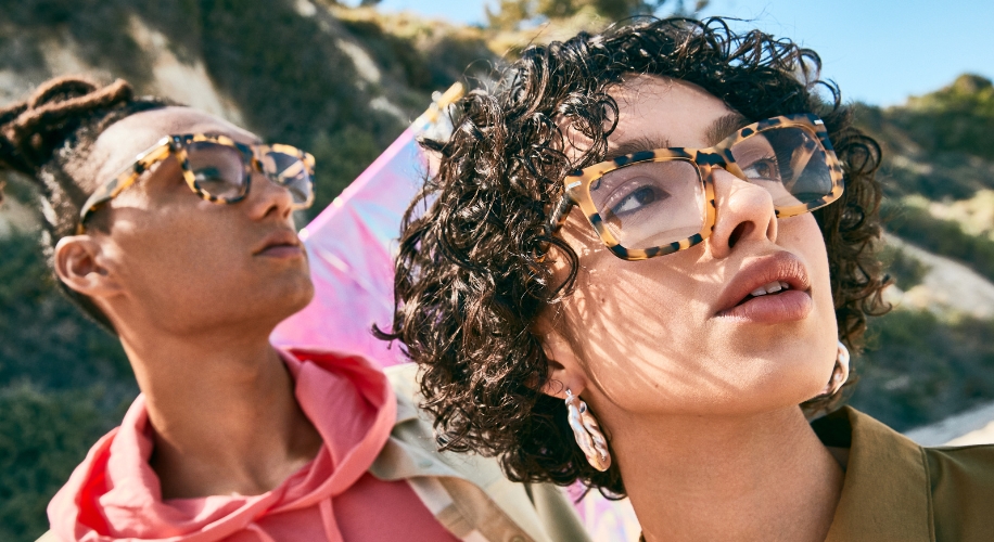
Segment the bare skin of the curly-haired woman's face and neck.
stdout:
[[[633,77],[611,94],[609,153],[633,141],[711,146],[728,134],[715,122],[735,113],[670,79]],[[825,388],[836,358],[825,243],[811,214],[777,220],[765,190],[724,170],[714,188],[713,235],[646,261],[615,257],[572,211],[562,235],[579,272],[539,330],[546,392],[570,388],[599,418],[648,541],[825,540],[842,467],[798,406]],[[723,311],[729,288],[770,260],[791,262],[810,287]]]

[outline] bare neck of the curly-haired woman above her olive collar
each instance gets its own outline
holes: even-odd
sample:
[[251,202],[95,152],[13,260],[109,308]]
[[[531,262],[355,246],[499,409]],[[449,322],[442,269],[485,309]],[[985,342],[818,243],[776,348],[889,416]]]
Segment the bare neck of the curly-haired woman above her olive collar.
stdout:
[[612,448],[646,540],[824,541],[843,472],[798,408],[630,416]]

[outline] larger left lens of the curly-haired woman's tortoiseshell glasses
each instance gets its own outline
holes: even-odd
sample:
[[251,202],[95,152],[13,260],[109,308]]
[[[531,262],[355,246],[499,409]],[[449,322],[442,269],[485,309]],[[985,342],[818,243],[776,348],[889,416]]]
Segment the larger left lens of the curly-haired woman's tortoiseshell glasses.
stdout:
[[704,186],[688,160],[642,162],[590,183],[603,225],[626,248],[665,246],[701,233]]

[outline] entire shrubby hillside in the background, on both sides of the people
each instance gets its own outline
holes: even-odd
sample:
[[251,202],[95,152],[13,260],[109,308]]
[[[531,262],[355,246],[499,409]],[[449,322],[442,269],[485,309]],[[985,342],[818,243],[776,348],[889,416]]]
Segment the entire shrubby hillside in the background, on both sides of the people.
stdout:
[[[53,75],[125,77],[318,158],[327,205],[429,103],[485,77],[528,31],[347,10],[330,0],[0,0],[0,103]],[[603,20],[585,11],[546,40]],[[531,30],[530,30],[531,31]],[[532,31],[534,34],[534,31]],[[844,89],[843,89],[844,90]],[[994,128],[990,81],[861,106],[887,152],[887,257],[899,305],[871,324],[854,402],[904,429],[994,400]],[[117,343],[53,289],[30,185],[0,207],[0,540],[44,505],[137,387]]]

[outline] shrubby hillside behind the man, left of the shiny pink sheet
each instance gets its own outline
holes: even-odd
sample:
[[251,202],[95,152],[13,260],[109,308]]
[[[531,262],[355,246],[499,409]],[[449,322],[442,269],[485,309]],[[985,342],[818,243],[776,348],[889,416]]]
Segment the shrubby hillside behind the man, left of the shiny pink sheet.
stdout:
[[[487,67],[479,29],[308,0],[0,0],[0,103],[52,77],[124,77],[318,159],[320,211],[431,102]],[[0,179],[2,182],[3,179]],[[0,206],[0,540],[44,506],[137,387],[117,341],[52,287],[30,184]]]

